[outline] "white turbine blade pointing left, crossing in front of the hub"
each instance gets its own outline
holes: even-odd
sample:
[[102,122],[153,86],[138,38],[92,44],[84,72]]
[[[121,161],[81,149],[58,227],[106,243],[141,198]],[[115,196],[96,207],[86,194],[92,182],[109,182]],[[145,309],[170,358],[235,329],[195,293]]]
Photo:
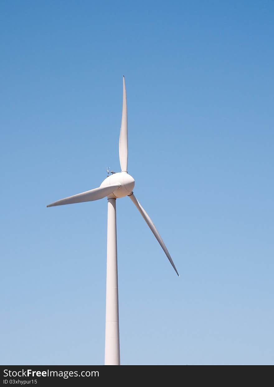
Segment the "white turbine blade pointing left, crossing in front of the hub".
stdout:
[[54,205],[73,204],[82,202],[92,202],[93,200],[103,199],[120,187],[120,184],[108,185],[107,187],[94,188],[93,190],[82,192],[81,194],[65,197],[65,199],[57,200],[57,202],[47,205],[53,207]]

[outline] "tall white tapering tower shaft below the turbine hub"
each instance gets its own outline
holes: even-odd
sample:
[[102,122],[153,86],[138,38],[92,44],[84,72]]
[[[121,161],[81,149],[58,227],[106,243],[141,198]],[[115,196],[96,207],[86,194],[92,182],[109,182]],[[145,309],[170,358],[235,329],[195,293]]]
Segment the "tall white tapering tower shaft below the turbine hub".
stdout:
[[105,365],[120,365],[116,199],[108,199]]

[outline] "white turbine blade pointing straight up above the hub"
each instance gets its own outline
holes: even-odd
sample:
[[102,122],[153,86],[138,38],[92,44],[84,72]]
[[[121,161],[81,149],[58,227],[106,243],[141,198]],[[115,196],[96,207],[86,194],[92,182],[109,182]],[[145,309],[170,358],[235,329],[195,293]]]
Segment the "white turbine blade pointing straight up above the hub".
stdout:
[[122,172],[127,172],[127,94],[125,90],[125,77],[123,76],[123,108],[122,122],[119,139],[119,158]]

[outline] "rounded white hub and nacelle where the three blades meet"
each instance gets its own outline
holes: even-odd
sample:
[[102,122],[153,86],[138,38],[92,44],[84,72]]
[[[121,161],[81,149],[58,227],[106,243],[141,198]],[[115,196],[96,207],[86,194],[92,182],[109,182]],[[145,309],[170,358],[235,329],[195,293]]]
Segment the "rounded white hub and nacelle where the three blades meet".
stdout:
[[116,190],[113,191],[112,194],[108,195],[108,199],[115,199],[117,197],[124,197],[130,195],[135,185],[134,178],[128,175],[127,172],[118,172],[113,173],[113,175],[110,175],[106,179],[104,179],[100,187],[107,187],[108,185],[116,183],[120,183],[120,187],[116,188]]

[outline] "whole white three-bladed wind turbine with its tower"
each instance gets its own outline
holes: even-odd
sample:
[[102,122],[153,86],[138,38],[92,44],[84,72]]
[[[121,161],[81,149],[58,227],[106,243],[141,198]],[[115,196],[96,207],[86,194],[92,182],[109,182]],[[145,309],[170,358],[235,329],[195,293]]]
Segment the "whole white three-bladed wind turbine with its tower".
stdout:
[[116,235],[116,199],[128,196],[137,207],[138,211],[146,221],[147,225],[155,235],[163,248],[173,269],[179,276],[178,271],[171,259],[151,218],[140,205],[133,194],[135,185],[134,178],[127,172],[127,96],[125,89],[125,77],[123,77],[123,108],[122,123],[119,139],[119,158],[121,172],[108,176],[98,188],[82,192],[77,195],[57,200],[47,205],[55,205],[92,202],[93,200],[108,198],[108,231],[106,252],[106,332],[105,332],[105,365],[120,365],[120,337],[119,337],[119,310],[118,310],[118,271],[117,271],[117,235]]

